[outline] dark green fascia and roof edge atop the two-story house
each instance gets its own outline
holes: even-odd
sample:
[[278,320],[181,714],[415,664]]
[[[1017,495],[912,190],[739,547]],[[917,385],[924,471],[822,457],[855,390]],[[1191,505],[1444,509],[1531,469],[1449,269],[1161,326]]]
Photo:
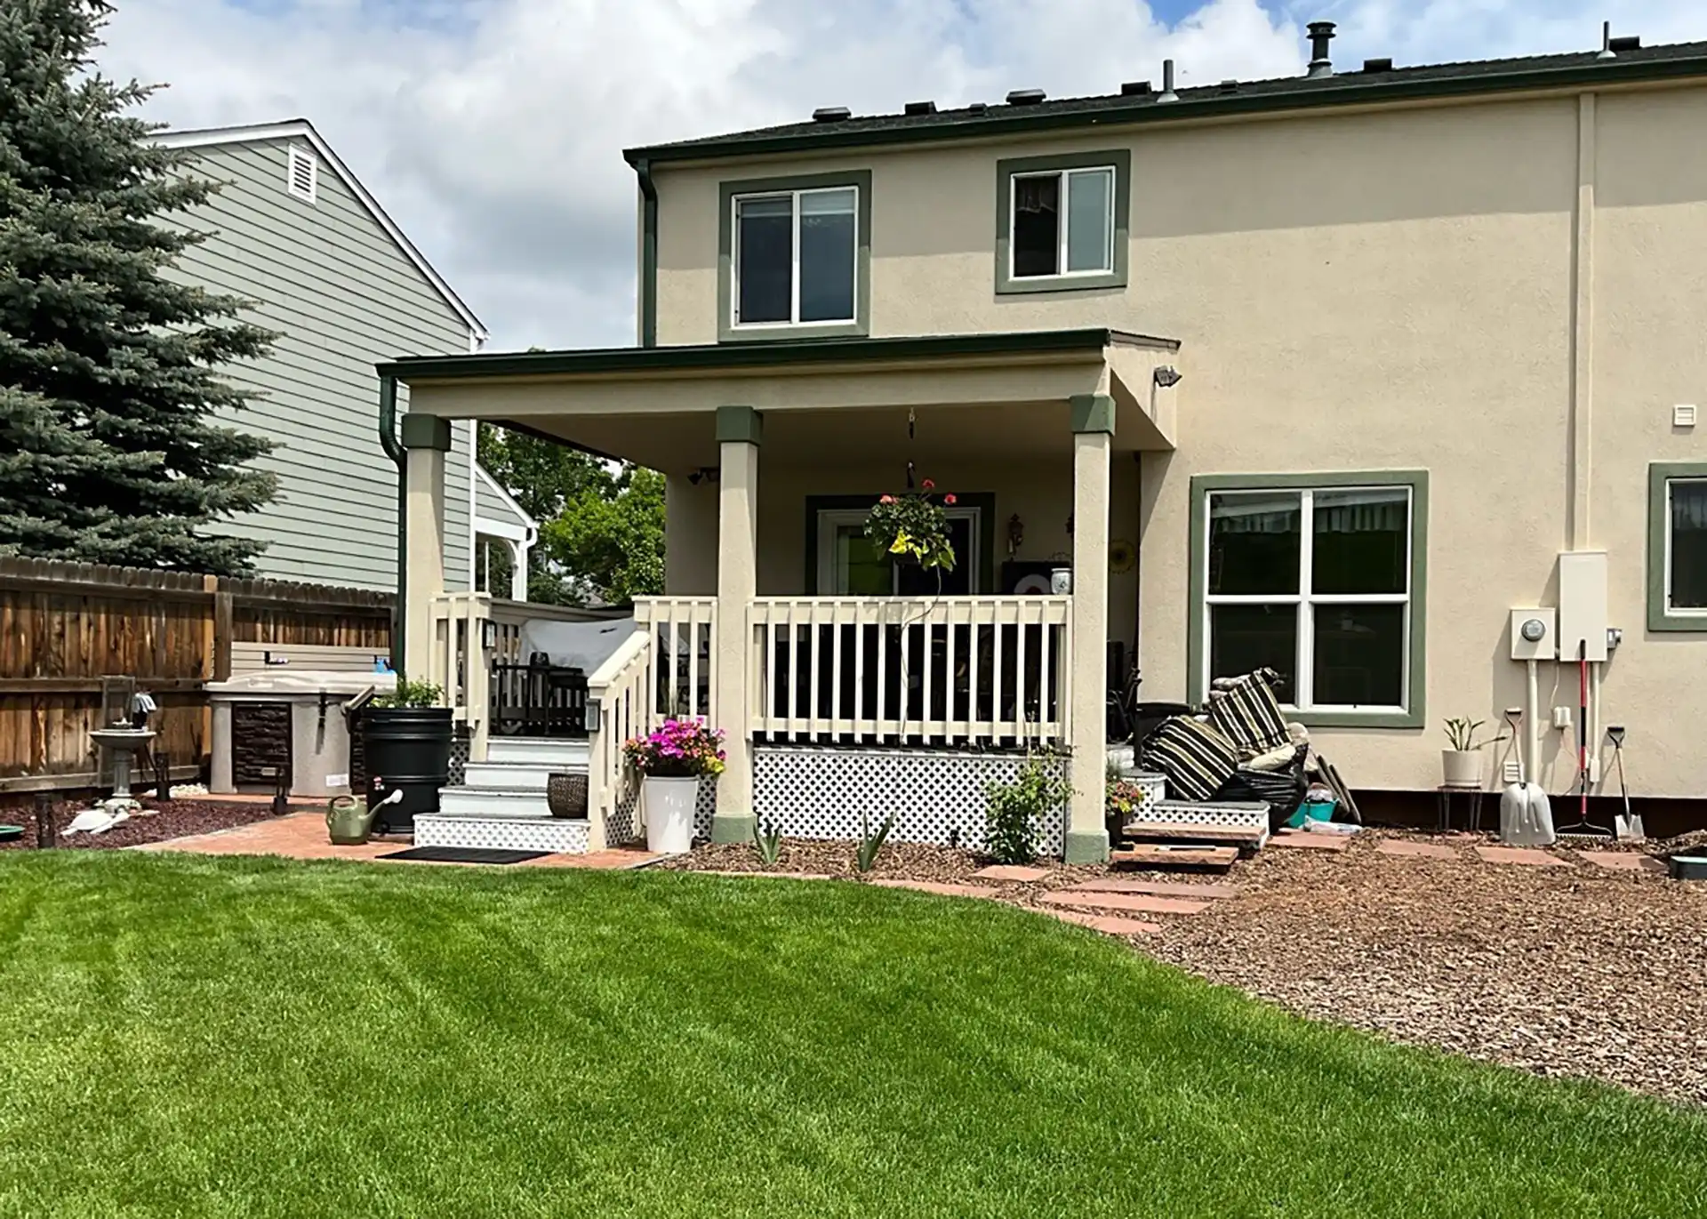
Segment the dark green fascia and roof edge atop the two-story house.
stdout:
[[1424,75],[1398,79],[1388,73],[1381,80],[1359,80],[1360,73],[1287,80],[1285,87],[1261,87],[1268,82],[1251,82],[1244,92],[1224,94],[1219,89],[1186,90],[1180,101],[1161,102],[1156,94],[1145,97],[1070,99],[1072,104],[1005,106],[990,108],[982,114],[949,111],[930,118],[903,120],[879,116],[881,126],[867,126],[867,120],[852,125],[823,123],[821,130],[787,128],[780,131],[743,131],[698,142],[657,143],[626,149],[630,164],[640,160],[654,166],[664,160],[719,160],[727,157],[760,157],[787,152],[833,152],[838,149],[876,149],[905,143],[935,143],[944,140],[980,140],[1045,131],[1070,131],[1077,128],[1135,126],[1144,123],[1180,123],[1186,120],[1239,118],[1275,114],[1284,111],[1343,109],[1347,106],[1383,106],[1449,97],[1499,96],[1512,92],[1582,89],[1627,85],[1642,82],[1680,80],[1707,75],[1707,55],[1676,58],[1617,58],[1591,60],[1548,67],[1511,67],[1489,72],[1461,72],[1453,75]]

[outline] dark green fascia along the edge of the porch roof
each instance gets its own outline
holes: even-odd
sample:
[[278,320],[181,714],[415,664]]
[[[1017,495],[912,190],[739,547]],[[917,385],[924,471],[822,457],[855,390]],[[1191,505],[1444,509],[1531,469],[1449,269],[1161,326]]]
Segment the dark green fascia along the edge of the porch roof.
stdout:
[[613,372],[688,372],[772,369],[775,365],[859,364],[864,360],[942,360],[982,355],[1086,355],[1108,347],[1149,347],[1178,352],[1180,341],[1133,335],[1106,326],[1029,330],[988,335],[922,335],[896,338],[790,338],[775,343],[702,343],[683,347],[606,347],[580,352],[492,352],[481,355],[415,355],[379,364],[381,377],[405,384],[481,377],[551,377]]

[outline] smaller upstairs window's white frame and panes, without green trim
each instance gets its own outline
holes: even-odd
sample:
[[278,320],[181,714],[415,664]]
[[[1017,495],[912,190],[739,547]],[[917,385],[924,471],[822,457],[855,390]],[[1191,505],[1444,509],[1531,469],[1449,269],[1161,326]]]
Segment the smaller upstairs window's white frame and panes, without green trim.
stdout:
[[1009,178],[1009,275],[1016,280],[1115,270],[1115,167]]

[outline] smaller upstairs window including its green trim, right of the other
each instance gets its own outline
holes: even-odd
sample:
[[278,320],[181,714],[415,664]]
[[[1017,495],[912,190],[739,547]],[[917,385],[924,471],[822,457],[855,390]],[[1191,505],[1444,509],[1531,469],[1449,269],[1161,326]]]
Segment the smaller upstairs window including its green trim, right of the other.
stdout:
[[997,292],[1127,285],[1127,149],[997,162]]

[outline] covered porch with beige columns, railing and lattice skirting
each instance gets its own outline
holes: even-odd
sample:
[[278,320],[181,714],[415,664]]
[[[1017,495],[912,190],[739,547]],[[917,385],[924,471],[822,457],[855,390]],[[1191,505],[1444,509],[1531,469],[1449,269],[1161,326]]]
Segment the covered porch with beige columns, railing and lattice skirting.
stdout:
[[[1075,790],[1053,847],[1103,859],[1106,698],[1137,644],[1135,456],[1174,446],[1176,362],[1171,340],[1079,330],[384,365],[410,388],[405,664],[451,676],[480,760],[485,691],[468,686],[495,639],[480,598],[444,592],[434,473],[451,420],[502,423],[667,478],[666,596],[637,603],[587,679],[594,840],[630,819],[621,741],[696,714],[727,732],[714,840],[748,840],[784,787],[842,772],[802,797],[842,806],[826,830],[862,799],[906,825],[920,767],[963,760],[978,792],[1048,746]],[[896,567],[862,536],[908,480],[956,499],[953,572]],[[1057,569],[1067,594],[1048,591]]]

